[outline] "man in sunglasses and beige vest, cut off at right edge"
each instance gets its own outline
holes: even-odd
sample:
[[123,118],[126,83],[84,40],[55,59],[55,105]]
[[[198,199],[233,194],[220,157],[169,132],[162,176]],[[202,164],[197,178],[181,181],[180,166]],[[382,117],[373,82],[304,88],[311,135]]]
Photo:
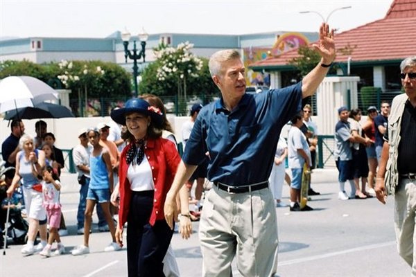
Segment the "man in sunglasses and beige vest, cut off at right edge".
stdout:
[[399,255],[416,276],[416,55],[400,64],[404,92],[393,99],[376,177],[376,197],[395,198],[395,231]]

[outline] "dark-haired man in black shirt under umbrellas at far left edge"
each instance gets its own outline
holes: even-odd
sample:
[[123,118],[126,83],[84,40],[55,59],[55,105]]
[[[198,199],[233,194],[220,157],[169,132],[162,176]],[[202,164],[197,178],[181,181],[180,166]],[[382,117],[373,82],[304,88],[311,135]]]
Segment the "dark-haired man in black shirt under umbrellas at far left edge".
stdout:
[[16,154],[19,152],[19,139],[24,134],[24,124],[20,119],[13,119],[10,129],[12,133],[1,144],[1,156],[6,161],[6,168],[16,166]]

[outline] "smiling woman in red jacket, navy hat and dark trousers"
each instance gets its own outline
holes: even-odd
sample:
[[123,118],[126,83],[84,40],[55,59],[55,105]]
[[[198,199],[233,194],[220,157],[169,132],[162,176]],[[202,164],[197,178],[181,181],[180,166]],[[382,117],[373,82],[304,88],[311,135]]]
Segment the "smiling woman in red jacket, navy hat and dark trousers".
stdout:
[[135,98],[112,111],[128,129],[130,143],[121,152],[120,209],[116,240],[123,244],[128,222],[128,276],[164,276],[162,260],[173,230],[164,219],[166,193],[180,162],[174,143],[162,139],[162,111]]

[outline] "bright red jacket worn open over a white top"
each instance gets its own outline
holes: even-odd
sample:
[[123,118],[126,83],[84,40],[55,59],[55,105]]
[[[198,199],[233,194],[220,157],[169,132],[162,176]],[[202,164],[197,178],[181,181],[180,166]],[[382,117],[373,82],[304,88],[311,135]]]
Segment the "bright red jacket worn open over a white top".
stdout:
[[[121,152],[119,166],[120,180],[120,208],[119,208],[119,226],[127,222],[128,212],[130,209],[130,199],[132,190],[130,181],[127,178],[128,164],[125,156],[130,149],[131,144],[127,145]],[[153,200],[153,210],[150,215],[150,225],[154,225],[156,220],[164,220],[164,202],[166,194],[172,186],[173,178],[180,163],[180,157],[175,145],[167,139],[148,139],[144,153],[152,168],[153,182],[155,183],[155,197]]]

